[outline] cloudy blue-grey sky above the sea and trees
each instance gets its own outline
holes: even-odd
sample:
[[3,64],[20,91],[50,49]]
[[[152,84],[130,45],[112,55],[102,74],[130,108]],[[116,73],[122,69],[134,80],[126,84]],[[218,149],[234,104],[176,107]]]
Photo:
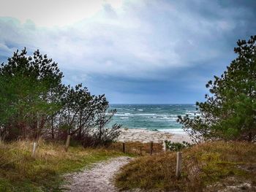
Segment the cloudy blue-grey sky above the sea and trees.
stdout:
[[194,104],[256,34],[252,0],[0,0],[0,62],[39,49],[112,104]]

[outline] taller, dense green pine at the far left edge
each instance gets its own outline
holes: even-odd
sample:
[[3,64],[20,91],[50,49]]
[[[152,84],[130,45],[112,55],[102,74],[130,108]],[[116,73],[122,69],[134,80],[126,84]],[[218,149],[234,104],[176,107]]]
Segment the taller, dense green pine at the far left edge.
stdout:
[[61,87],[63,75],[57,64],[39,50],[33,57],[26,54],[26,49],[15,52],[0,68],[1,132],[8,132],[10,139],[37,137],[47,116],[61,107],[49,101],[50,92]]

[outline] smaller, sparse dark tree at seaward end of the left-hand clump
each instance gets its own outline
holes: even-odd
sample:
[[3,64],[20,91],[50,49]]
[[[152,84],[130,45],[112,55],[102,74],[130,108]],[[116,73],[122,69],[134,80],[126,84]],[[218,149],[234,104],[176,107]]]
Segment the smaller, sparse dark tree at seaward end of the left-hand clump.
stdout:
[[[63,97],[64,108],[61,112],[61,127],[67,131],[67,147],[69,139],[73,136],[77,140],[85,139],[90,145],[102,141],[112,141],[113,136],[118,134],[118,127],[106,131],[105,125],[109,123],[116,110],[107,114],[108,101],[105,95],[91,96],[87,88],[76,85],[75,88],[67,88]],[[106,134],[108,132],[108,134]],[[97,135],[97,137],[96,137]]]

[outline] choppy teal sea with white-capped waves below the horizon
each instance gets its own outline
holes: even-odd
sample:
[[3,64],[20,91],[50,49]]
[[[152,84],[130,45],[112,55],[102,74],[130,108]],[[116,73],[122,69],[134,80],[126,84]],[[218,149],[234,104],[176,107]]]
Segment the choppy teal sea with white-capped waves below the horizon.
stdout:
[[116,109],[112,123],[122,124],[124,128],[143,128],[148,130],[182,133],[178,115],[195,115],[194,104],[110,104]]

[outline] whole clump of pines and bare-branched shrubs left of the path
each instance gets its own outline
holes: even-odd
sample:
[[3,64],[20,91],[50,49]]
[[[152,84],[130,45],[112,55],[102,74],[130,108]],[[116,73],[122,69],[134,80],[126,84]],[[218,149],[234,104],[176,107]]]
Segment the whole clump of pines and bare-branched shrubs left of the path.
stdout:
[[49,137],[104,144],[118,137],[120,125],[105,128],[116,110],[108,112],[105,95],[94,96],[82,84],[64,85],[58,65],[39,50],[18,51],[0,68],[0,139]]

